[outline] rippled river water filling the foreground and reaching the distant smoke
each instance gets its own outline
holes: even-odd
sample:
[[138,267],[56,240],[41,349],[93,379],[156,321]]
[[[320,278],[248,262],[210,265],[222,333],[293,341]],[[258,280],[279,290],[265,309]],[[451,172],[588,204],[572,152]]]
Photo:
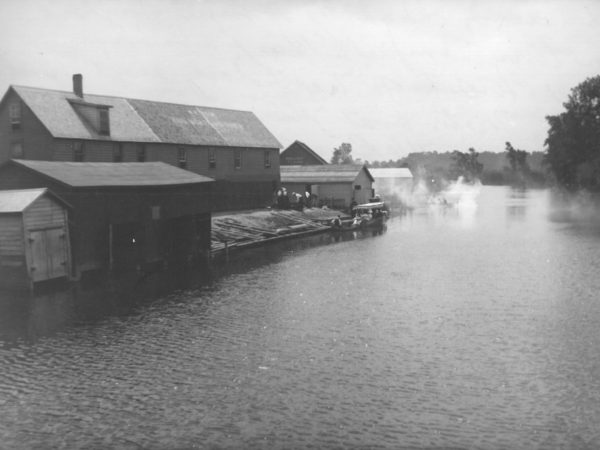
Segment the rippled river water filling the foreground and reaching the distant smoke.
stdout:
[[0,448],[600,448],[600,228],[455,195],[208,284],[6,308]]

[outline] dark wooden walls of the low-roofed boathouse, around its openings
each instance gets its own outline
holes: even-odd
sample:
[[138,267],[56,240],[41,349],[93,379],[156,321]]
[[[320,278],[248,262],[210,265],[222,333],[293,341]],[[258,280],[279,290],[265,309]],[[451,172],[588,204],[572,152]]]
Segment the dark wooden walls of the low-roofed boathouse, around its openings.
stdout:
[[[132,187],[71,189],[27,169],[8,165],[0,169],[0,189],[47,187],[63,198],[73,210],[70,218],[70,242],[75,273],[91,269],[107,269],[109,265],[109,226],[139,224],[147,246],[140,251],[140,260],[164,256],[170,220],[189,217],[210,218],[213,183],[172,187]],[[156,209],[158,208],[158,209]],[[153,216],[159,214],[159,218]],[[198,236],[190,251],[209,248],[208,228]],[[185,232],[188,228],[183,228]],[[184,239],[190,240],[189,236]]]

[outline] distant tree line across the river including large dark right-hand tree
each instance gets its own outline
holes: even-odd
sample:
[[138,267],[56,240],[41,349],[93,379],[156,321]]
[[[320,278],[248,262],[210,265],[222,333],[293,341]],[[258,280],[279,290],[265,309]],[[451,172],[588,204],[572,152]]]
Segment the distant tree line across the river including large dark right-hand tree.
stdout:
[[415,152],[396,160],[363,162],[353,158],[352,144],[342,143],[334,149],[331,163],[408,167],[413,175],[433,185],[463,177],[483,184],[540,186],[550,182],[568,191],[600,192],[600,75],[572,88],[563,107],[562,113],[546,116],[549,130],[544,152],[528,152],[506,142],[501,154],[469,148],[466,152]]

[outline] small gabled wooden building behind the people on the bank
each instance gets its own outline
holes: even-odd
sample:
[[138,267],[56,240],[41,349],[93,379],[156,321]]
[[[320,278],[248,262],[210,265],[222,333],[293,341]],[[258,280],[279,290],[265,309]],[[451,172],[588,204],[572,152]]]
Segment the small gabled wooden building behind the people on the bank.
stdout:
[[361,164],[281,166],[281,184],[292,192],[309,192],[318,206],[347,209],[373,197],[373,177]]

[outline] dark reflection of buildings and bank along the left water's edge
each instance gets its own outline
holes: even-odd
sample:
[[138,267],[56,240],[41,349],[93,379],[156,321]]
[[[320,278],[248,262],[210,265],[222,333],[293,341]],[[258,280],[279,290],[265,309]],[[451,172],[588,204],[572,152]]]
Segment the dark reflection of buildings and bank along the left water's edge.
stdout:
[[381,236],[386,229],[328,232],[248,248],[232,252],[227,261],[217,258],[208,272],[185,268],[110,281],[100,277],[73,285],[41,285],[34,294],[0,291],[0,343],[33,343],[69,326],[137,314],[153,302],[191,295],[210,288],[219,279],[276,264],[296,252]]

